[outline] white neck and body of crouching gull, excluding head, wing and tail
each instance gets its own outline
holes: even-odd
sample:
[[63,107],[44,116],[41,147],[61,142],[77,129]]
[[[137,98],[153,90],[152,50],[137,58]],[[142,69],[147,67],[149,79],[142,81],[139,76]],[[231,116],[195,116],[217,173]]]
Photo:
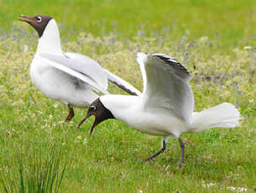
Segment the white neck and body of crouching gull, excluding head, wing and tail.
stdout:
[[115,118],[142,133],[169,138],[180,136],[187,128],[186,123],[166,108],[145,108],[143,97],[105,95],[100,100]]

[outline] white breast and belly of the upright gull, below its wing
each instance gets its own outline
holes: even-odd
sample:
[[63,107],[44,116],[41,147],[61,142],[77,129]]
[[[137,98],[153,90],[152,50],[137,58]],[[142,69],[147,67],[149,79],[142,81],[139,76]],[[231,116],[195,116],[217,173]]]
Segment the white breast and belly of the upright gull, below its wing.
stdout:
[[76,78],[47,65],[34,58],[30,67],[31,80],[47,97],[53,98],[65,105],[88,107],[97,99],[97,94],[90,86],[78,82]]

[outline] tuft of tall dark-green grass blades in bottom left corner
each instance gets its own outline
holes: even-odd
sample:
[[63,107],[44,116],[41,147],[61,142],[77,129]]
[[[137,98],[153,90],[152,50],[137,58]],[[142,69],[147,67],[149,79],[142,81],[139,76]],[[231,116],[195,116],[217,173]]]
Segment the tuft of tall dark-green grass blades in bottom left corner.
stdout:
[[62,157],[62,145],[56,144],[34,149],[33,154],[18,154],[18,167],[15,170],[6,162],[5,170],[0,170],[0,183],[7,193],[56,193],[65,174],[66,161]]

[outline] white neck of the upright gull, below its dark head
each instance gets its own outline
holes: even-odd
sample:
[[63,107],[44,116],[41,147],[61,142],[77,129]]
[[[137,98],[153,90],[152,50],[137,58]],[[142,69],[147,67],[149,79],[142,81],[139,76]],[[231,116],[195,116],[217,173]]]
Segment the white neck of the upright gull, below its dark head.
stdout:
[[36,55],[39,55],[41,53],[62,55],[62,50],[60,46],[60,33],[58,25],[53,18],[50,19],[50,22],[44,29],[43,35],[39,39]]

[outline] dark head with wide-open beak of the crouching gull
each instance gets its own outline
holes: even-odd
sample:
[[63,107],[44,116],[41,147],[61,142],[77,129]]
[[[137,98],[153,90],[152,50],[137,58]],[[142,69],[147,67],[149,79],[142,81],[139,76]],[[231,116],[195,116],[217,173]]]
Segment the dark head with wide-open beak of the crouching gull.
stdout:
[[81,123],[79,123],[78,128],[81,126],[81,124],[86,121],[88,117],[91,117],[91,115],[94,115],[95,120],[90,130],[90,135],[93,132],[93,129],[97,126],[97,124],[102,123],[103,121],[107,120],[108,118],[115,118],[112,115],[112,112],[110,112],[104,105],[102,104],[100,98],[97,98],[94,102],[91,103],[88,112],[86,114],[86,117],[81,120]]

